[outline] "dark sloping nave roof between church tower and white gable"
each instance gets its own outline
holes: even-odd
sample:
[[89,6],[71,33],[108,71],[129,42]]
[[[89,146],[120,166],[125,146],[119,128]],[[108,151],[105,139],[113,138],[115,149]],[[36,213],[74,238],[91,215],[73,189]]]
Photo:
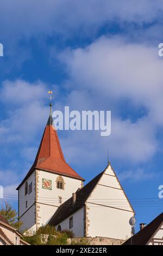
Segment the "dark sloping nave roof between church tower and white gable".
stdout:
[[57,225],[64,219],[71,216],[74,212],[78,211],[85,205],[85,202],[93,189],[96,187],[99,179],[102,177],[104,171],[98,174],[93,180],[87,183],[82,189],[78,189],[76,192],[76,203],[73,204],[73,198],[71,197],[65,203],[60,205],[58,210],[54,213],[53,217],[49,221],[49,225]]

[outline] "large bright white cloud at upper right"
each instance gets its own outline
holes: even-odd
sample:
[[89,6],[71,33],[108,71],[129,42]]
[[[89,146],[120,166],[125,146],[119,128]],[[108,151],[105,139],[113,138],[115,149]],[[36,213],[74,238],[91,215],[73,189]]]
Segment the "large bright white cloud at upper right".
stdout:
[[157,46],[102,37],[85,49],[62,53],[60,58],[76,88],[83,85],[109,98],[129,98],[147,107],[153,103],[149,99],[158,98],[163,90]]

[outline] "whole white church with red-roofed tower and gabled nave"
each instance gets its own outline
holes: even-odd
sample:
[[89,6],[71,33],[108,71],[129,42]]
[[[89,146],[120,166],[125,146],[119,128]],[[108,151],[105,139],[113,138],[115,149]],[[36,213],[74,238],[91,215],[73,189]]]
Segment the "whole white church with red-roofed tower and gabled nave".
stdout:
[[22,230],[34,233],[49,224],[72,230],[76,237],[128,239],[135,212],[110,162],[89,183],[84,181],[66,163],[51,111],[34,164],[17,187]]

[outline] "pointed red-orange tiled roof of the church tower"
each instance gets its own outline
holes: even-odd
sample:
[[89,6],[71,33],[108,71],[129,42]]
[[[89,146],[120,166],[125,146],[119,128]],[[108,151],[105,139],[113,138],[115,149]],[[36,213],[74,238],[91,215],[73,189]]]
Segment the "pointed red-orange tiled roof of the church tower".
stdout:
[[27,180],[35,169],[49,171],[84,181],[84,178],[80,177],[77,172],[66,163],[61,150],[57,130],[53,127],[53,118],[51,115],[48,118],[34,164],[17,189],[21,187],[22,183]]

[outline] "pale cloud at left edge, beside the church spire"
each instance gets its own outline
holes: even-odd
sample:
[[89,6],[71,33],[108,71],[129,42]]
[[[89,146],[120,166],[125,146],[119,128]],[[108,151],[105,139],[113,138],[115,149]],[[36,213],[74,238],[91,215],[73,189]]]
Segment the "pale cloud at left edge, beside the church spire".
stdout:
[[43,105],[43,99],[48,98],[46,85],[23,80],[4,81],[0,96],[7,108],[7,117],[0,122],[1,144],[28,144],[48,118],[48,106]]

